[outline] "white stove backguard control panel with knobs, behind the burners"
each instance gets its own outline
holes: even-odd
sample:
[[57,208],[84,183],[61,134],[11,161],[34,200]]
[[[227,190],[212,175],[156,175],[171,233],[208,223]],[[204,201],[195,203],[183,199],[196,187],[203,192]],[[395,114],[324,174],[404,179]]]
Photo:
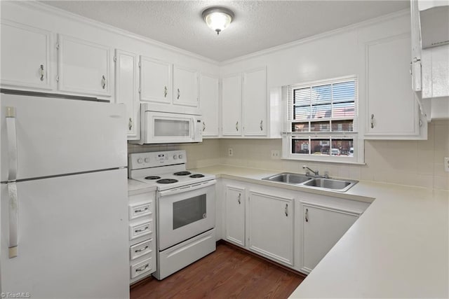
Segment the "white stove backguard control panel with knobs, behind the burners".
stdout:
[[187,163],[187,155],[184,150],[130,153],[128,155],[128,169],[130,170],[185,163]]

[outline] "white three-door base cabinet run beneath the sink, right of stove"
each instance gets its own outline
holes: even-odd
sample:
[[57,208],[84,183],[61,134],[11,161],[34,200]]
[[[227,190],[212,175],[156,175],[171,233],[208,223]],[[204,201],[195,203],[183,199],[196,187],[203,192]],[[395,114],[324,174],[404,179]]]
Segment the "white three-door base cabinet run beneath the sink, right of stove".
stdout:
[[307,190],[221,183],[223,239],[306,274],[370,205]]

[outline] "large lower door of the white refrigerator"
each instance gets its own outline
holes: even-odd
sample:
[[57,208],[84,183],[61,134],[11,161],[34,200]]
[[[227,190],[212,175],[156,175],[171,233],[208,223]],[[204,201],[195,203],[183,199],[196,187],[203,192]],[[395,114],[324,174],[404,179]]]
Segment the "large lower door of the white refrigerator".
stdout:
[[126,169],[22,181],[18,256],[8,258],[1,184],[1,292],[31,298],[128,298]]

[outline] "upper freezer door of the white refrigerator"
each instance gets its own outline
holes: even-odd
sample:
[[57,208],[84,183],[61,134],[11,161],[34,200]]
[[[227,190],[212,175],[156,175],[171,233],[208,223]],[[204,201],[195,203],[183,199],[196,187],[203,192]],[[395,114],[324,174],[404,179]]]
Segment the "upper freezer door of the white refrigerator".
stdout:
[[[126,167],[123,104],[4,94],[0,103],[1,181],[11,169],[11,138],[17,141],[17,180]],[[11,110],[15,137],[6,121]]]

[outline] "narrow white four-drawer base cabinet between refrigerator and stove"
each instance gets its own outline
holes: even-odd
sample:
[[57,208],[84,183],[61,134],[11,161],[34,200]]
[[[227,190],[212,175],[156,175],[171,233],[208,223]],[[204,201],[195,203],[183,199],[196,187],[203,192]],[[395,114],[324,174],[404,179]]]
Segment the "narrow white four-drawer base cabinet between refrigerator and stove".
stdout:
[[130,284],[156,272],[156,194],[128,192]]

